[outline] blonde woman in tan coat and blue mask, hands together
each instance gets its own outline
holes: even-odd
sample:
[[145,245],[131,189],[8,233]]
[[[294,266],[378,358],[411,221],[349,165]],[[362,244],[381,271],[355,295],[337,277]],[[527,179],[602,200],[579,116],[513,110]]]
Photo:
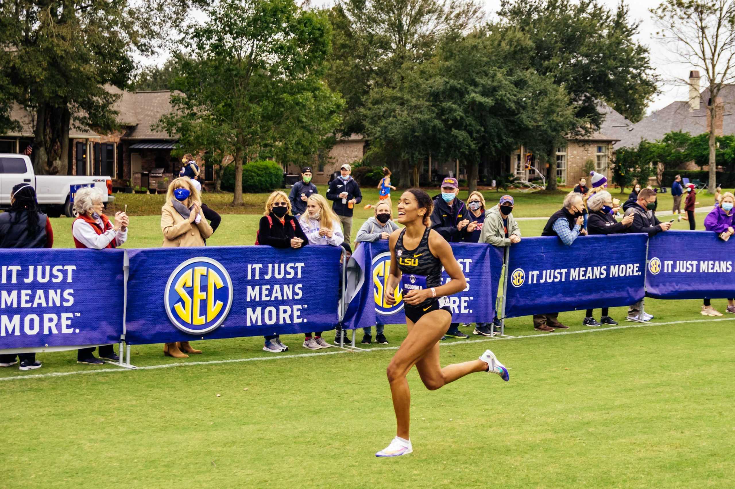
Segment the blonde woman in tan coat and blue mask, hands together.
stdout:
[[[161,208],[161,231],[163,247],[204,246],[204,239],[212,236],[214,231],[201,211],[199,191],[190,178],[176,178],[168,186]],[[194,349],[189,341],[163,347],[163,354],[174,358],[188,358],[186,353],[201,353],[201,349]]]

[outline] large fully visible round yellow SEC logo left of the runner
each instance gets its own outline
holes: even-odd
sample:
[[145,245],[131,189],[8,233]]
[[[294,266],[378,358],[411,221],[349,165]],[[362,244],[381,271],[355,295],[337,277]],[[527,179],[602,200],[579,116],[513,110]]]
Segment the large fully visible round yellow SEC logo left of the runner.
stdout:
[[217,329],[232,308],[232,280],[218,261],[190,258],[173,270],[165,291],[168,319],[184,333]]

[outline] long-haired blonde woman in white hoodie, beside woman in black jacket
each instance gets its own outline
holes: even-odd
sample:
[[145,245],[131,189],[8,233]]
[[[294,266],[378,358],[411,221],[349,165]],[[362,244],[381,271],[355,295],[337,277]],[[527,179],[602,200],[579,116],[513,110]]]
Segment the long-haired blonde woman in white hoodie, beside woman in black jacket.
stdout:
[[[331,210],[326,199],[319,194],[312,194],[306,200],[306,212],[301,214],[298,223],[309,239],[309,245],[340,246],[345,241],[340,218]],[[317,331],[314,336],[312,333],[306,333],[302,346],[308,349],[329,348],[321,333]]]

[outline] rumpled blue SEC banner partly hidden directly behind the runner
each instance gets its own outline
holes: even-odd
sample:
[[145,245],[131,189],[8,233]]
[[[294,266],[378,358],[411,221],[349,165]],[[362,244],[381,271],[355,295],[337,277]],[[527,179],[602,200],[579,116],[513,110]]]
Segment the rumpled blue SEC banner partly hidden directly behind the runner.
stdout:
[[[476,243],[451,243],[454,258],[467,279],[467,288],[448,297],[452,322],[491,322],[503,267],[503,248]],[[395,290],[397,302],[384,303],[383,292],[390,273],[387,239],[362,242],[348,266],[348,304],[343,324],[346,329],[406,322],[403,294]],[[449,276],[442,271],[442,283]]]

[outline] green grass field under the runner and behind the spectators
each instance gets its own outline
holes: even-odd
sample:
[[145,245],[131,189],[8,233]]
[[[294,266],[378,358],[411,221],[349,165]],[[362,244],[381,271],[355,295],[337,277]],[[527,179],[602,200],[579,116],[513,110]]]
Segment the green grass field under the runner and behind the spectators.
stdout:
[[[558,209],[559,195],[545,199]],[[354,235],[369,215],[359,209]],[[251,245],[258,220],[226,214],[207,244]],[[71,220],[52,223],[54,247],[73,246]],[[520,226],[538,236],[544,223]],[[161,240],[158,215],[131,217],[126,247]],[[204,353],[185,360],[134,346],[133,371],[41,353],[43,369],[0,369],[0,488],[735,487],[735,317],[700,305],[647,300],[647,325],[613,308],[614,328],[565,312],[570,330],[548,334],[513,318],[515,338],[442,342],[442,365],[490,348],[511,380],[472,374],[430,392],[412,371],[414,453],[395,460],[373,454],[395,434],[385,368],[405,325],[386,327],[387,347],[358,345],[368,351],[312,353],[300,335],[278,355],[262,338],[195,341]]]

